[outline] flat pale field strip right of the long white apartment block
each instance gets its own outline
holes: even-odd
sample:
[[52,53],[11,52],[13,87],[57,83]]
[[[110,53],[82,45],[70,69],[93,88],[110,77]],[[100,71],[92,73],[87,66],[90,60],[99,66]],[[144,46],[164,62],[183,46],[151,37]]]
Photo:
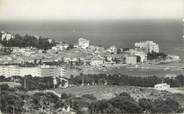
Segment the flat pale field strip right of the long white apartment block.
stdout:
[[[153,67],[153,66],[152,66]],[[84,74],[100,74],[100,73],[106,73],[106,74],[127,74],[129,76],[138,76],[138,77],[148,77],[148,76],[158,76],[158,77],[164,77],[167,74],[184,74],[184,69],[163,69],[159,68],[159,66],[155,65],[154,67],[158,68],[152,68],[152,67],[144,67],[144,68],[135,68],[135,67],[127,67],[127,66],[122,66],[122,67],[108,67],[108,68],[103,68],[103,67],[83,67],[82,70],[78,71],[68,69],[66,71],[66,76],[69,77],[71,74],[76,76],[79,75],[80,73]]]

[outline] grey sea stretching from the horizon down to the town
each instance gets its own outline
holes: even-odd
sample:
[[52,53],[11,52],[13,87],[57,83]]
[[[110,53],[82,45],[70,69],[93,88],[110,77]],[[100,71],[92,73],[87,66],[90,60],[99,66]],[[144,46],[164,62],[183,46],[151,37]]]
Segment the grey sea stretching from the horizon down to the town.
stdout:
[[78,38],[90,44],[134,48],[134,43],[152,40],[160,51],[184,58],[182,20],[62,20],[62,21],[0,21],[0,30],[21,35],[48,37],[66,43]]

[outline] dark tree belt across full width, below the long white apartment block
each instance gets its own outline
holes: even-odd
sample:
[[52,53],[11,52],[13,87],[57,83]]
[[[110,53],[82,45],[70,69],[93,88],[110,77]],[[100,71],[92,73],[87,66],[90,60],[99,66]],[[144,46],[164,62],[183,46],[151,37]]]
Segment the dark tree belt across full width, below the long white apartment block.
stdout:
[[[0,76],[0,82],[8,81],[11,82],[17,80],[22,88],[27,90],[44,90],[54,88],[53,77],[32,77],[31,75],[20,77],[13,76],[12,78],[5,78]],[[72,85],[120,85],[120,86],[139,86],[139,87],[154,87],[155,84],[165,82],[171,87],[184,87],[184,76],[178,75],[176,78],[160,78],[156,76],[150,77],[133,77],[128,75],[107,75],[107,74],[97,74],[97,75],[84,75],[73,77],[71,76],[69,83]],[[58,87],[61,84],[60,79],[57,78]]]

